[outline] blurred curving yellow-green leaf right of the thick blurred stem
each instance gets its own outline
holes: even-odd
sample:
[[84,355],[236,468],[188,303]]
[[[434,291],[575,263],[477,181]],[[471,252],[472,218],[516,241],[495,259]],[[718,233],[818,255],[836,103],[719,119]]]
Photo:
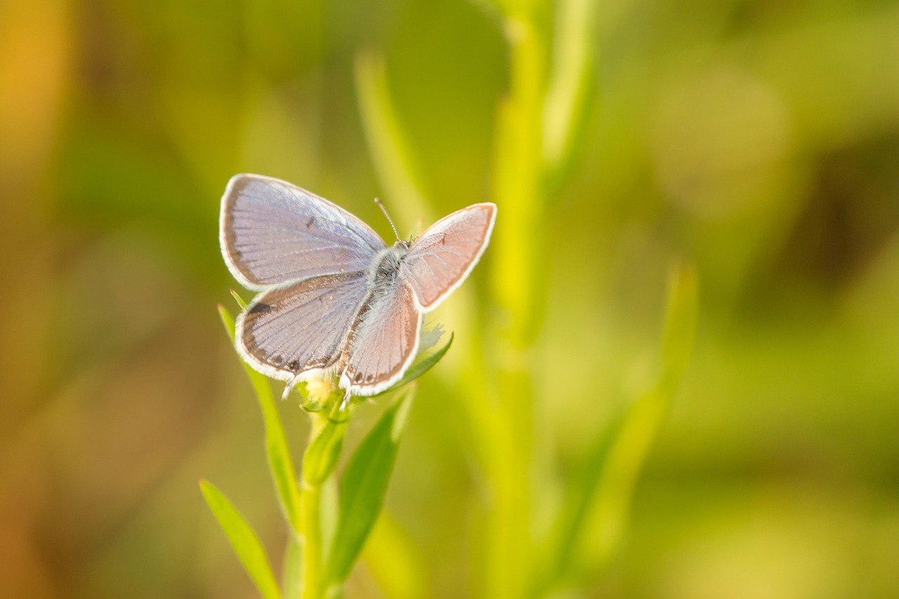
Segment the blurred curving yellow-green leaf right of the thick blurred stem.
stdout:
[[690,360],[697,305],[696,274],[690,267],[674,268],[659,374],[590,452],[560,520],[550,586],[559,579],[591,575],[618,546],[636,478]]

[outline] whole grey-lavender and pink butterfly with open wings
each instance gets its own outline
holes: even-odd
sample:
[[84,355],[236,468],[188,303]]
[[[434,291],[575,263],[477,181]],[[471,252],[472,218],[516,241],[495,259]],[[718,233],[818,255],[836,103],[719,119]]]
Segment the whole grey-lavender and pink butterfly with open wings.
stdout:
[[312,192],[236,174],[222,196],[219,243],[236,280],[259,291],[236,319],[237,352],[288,381],[285,398],[298,381],[329,373],[345,398],[389,389],[414,360],[424,314],[465,281],[495,221],[495,204],[472,204],[410,241],[394,228],[387,246]]

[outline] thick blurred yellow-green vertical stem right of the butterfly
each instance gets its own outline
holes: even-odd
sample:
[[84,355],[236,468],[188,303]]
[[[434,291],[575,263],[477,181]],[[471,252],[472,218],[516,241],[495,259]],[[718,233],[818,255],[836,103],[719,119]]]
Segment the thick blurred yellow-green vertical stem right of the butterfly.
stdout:
[[506,22],[510,90],[500,106],[494,194],[503,207],[495,233],[494,298],[500,308],[496,348],[496,417],[487,459],[492,485],[485,596],[526,595],[532,570],[532,385],[528,354],[533,335],[533,264],[539,255],[542,209],[541,113],[546,37],[534,6]]

